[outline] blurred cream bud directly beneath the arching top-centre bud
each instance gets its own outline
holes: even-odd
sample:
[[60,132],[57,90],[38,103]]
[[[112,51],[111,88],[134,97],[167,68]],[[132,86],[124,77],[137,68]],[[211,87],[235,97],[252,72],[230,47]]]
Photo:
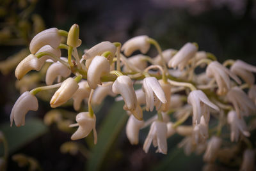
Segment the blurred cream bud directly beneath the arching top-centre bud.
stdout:
[[[145,60],[145,56],[141,54],[129,57],[127,60],[129,61],[129,63],[132,64],[132,67],[137,68],[136,70],[138,71],[143,71],[148,66],[147,61]],[[124,66],[122,70],[124,72],[132,71],[132,70],[129,70],[127,66]]]

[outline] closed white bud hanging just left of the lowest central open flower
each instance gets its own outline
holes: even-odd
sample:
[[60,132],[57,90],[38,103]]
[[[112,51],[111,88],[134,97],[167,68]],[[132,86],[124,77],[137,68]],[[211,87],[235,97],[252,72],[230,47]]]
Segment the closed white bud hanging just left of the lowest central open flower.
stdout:
[[143,125],[144,121],[139,121],[133,115],[130,115],[126,124],[126,136],[132,145],[139,143],[139,132]]

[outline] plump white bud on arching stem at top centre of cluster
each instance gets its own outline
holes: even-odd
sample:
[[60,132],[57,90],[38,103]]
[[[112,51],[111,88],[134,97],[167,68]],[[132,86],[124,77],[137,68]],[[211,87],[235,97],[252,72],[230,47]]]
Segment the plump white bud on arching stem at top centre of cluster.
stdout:
[[131,56],[136,50],[140,50],[142,54],[146,54],[149,48],[148,36],[136,36],[124,43],[122,51],[124,51],[125,56]]

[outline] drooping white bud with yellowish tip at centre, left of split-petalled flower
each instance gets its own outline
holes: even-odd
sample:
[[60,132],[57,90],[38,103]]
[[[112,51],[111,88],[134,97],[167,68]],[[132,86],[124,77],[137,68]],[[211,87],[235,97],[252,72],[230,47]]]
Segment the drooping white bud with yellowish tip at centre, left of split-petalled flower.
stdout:
[[137,106],[137,98],[133,88],[133,82],[127,75],[117,77],[112,85],[113,93],[121,94],[124,99],[125,110],[135,110]]

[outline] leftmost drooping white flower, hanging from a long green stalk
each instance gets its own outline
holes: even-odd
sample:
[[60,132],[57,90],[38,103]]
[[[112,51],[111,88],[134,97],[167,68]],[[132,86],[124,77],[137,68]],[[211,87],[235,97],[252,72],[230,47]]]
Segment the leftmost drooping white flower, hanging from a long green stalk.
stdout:
[[11,126],[13,123],[13,119],[17,127],[24,126],[25,115],[28,113],[29,110],[38,110],[38,101],[34,95],[26,91],[21,94],[21,96],[18,98],[12,108],[10,116]]

